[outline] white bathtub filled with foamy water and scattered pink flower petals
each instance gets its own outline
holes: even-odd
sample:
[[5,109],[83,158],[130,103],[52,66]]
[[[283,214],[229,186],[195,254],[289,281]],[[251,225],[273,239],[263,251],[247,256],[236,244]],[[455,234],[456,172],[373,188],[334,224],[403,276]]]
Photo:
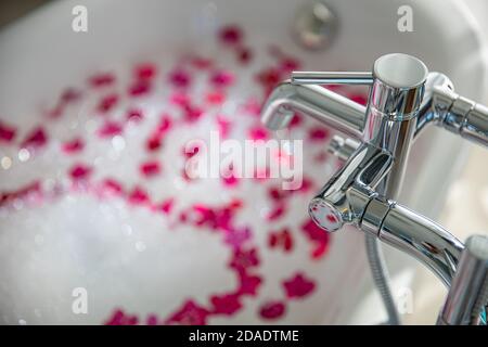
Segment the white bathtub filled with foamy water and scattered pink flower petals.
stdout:
[[[331,130],[298,117],[267,132],[260,103],[292,69],[369,70],[389,52],[484,101],[486,40],[460,1],[403,1],[413,31],[402,33],[397,2],[330,0],[337,35],[309,51],[292,33],[304,3],[56,1],[0,33],[1,323],[384,320],[364,304],[362,233],[325,235],[307,217],[341,165],[325,151]],[[79,5],[87,31],[73,29]],[[307,184],[283,194],[273,179],[189,179],[182,149],[211,131],[303,139]],[[399,201],[436,218],[464,153],[426,131]],[[390,249],[387,260],[394,290],[408,288],[412,260]]]

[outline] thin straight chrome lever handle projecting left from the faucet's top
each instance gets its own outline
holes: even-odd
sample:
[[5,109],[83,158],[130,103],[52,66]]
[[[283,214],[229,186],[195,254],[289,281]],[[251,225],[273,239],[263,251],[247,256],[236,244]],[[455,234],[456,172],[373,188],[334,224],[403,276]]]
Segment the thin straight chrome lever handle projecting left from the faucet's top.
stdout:
[[293,85],[362,85],[373,83],[370,72],[293,72]]

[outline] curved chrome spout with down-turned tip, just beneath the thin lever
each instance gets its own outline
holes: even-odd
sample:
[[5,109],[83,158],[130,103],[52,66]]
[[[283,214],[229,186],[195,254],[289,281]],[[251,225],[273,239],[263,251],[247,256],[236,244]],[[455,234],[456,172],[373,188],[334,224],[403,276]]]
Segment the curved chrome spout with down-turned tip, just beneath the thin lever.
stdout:
[[320,86],[279,85],[262,107],[261,121],[271,130],[285,128],[300,112],[349,137],[361,139],[365,107]]

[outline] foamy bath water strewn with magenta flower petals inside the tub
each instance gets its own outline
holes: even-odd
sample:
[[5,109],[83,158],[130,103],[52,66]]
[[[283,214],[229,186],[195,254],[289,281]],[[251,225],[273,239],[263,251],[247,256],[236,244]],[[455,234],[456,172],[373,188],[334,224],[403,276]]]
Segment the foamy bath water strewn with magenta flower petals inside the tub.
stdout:
[[[259,120],[300,61],[251,44],[235,25],[215,40],[213,53],[87,72],[47,107],[33,105],[27,124],[0,108],[1,323],[334,321],[337,281],[357,275],[336,265],[354,248],[307,216],[341,165],[326,152],[331,132],[299,114],[279,133]],[[187,164],[213,137],[220,147],[304,140],[301,184],[284,190],[267,165],[252,177],[234,166],[193,177]],[[270,160],[295,154],[279,147]]]

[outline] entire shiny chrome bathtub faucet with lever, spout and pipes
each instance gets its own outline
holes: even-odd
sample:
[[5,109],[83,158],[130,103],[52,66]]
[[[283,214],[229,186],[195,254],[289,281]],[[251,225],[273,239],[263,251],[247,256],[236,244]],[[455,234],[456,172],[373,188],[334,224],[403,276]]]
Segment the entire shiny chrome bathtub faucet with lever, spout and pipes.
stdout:
[[[371,86],[368,105],[319,86],[328,83]],[[448,77],[428,73],[419,59],[394,53],[377,59],[371,73],[293,73],[269,97],[261,120],[270,129],[282,129],[295,111],[348,137],[331,141],[331,152],[346,163],[310,202],[313,221],[326,232],[354,224],[367,233],[367,242],[380,240],[412,255],[451,287],[438,323],[478,323],[488,304],[487,237],[476,236],[477,242],[464,245],[395,200],[410,147],[423,129],[435,124],[488,146],[488,108],[454,93]],[[462,255],[476,258],[476,266],[460,267]],[[375,258],[381,257],[373,254],[370,261]],[[371,265],[382,267],[381,261]],[[460,275],[462,280],[453,281]],[[382,281],[380,275],[376,282]],[[384,290],[386,301],[389,294]],[[459,293],[476,297],[466,305]]]

